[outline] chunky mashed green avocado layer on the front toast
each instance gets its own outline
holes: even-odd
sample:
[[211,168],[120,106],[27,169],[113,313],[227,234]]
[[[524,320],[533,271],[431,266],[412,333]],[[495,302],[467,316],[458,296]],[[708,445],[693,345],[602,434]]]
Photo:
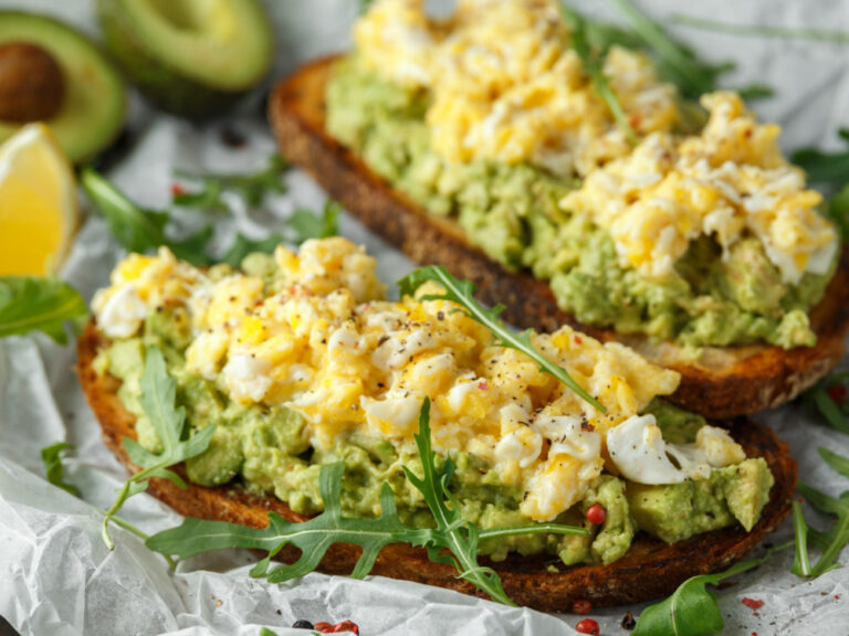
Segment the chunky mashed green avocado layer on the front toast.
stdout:
[[[228,271],[227,266],[217,266],[210,275],[223,278]],[[220,385],[189,371],[186,350],[192,338],[185,307],[159,307],[147,316],[137,335],[116,339],[98,353],[95,368],[122,381],[118,396],[137,417],[138,442],[145,448],[160,449],[154,426],[138,401],[145,351],[153,346],[163,351],[168,371],[177,381],[177,401],[186,407],[191,430],[216,426],[209,448],[187,462],[191,481],[201,486],[234,483],[251,491],[276,496],[296,512],[311,515],[323,507],[318,494],[321,466],[342,460],[345,515],[379,515],[380,487],[388,483],[402,521],[416,527],[432,523],[421,494],[410,486],[401,469],[407,466],[420,471],[420,460],[412,448],[405,451],[403,446],[361,433],[342,435],[325,451],[313,447],[308,425],[298,413],[283,405],[237,403]],[[693,442],[704,424],[700,417],[659,401],[652,402],[648,411],[656,415],[664,438],[672,443]],[[484,529],[530,522],[518,511],[521,489],[502,484],[497,471],[472,453],[458,453],[452,459],[457,469],[450,490],[465,518]],[[757,521],[772,485],[773,476],[763,458],[747,458],[714,469],[708,478],[671,486],[640,486],[602,473],[584,499],[556,519],[586,527],[589,538],[514,536],[485,541],[481,553],[496,561],[514,551],[556,555],[567,565],[610,563],[627,552],[638,530],[667,542],[735,522],[748,530]],[[598,526],[585,517],[594,504],[600,504],[606,511],[605,521]]]

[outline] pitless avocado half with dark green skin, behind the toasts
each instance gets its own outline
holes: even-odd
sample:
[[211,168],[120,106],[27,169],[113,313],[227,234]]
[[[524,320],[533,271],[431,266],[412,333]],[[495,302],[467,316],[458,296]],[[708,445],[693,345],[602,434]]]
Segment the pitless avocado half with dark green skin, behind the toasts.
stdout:
[[159,108],[219,115],[271,67],[274,41],[256,0],[97,0],[106,45]]

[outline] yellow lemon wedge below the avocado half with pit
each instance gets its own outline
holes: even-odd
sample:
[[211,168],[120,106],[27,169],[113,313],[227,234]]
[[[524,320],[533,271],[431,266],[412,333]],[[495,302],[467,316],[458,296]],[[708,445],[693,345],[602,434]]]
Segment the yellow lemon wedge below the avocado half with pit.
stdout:
[[24,126],[0,146],[0,275],[54,274],[78,224],[71,163],[46,126]]

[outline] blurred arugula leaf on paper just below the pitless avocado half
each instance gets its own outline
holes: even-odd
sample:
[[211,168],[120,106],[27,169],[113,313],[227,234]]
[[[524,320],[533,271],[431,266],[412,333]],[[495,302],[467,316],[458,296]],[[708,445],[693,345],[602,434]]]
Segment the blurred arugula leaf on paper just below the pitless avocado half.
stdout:
[[286,184],[281,174],[289,169],[289,162],[280,155],[272,155],[268,166],[253,174],[196,174],[178,170],[177,177],[201,183],[197,192],[181,192],[174,197],[174,204],[200,210],[223,210],[229,208],[221,199],[223,192],[234,192],[250,206],[262,203],[269,192],[285,193]]

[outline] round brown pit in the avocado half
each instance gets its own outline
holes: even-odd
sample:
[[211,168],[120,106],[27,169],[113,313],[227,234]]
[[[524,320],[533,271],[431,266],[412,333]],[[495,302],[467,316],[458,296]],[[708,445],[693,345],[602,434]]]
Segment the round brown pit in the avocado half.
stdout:
[[62,108],[65,80],[53,56],[30,42],[0,44],[0,119],[50,119]]

